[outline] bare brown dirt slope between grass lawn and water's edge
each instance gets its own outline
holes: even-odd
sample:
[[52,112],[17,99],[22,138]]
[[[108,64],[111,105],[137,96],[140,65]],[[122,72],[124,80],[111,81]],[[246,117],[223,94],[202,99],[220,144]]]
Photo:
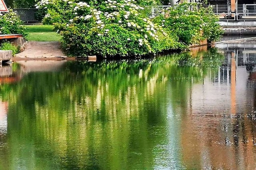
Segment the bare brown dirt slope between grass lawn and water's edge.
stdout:
[[16,55],[16,58],[54,58],[66,55],[60,49],[60,43],[55,41],[29,41],[25,50]]

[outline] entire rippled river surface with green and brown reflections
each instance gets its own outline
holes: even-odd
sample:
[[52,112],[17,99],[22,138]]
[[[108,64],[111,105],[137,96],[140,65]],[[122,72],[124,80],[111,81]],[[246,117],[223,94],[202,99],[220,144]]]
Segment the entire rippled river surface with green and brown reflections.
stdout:
[[255,46],[3,66],[0,169],[255,169]]

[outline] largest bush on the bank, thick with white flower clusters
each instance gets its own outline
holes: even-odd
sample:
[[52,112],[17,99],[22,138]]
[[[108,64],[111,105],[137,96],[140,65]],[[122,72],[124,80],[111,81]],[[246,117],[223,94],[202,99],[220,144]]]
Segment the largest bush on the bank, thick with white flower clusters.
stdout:
[[48,8],[48,17],[62,35],[62,46],[69,55],[123,57],[178,49],[176,37],[144,18],[144,8],[135,3],[108,0],[95,6],[76,0],[42,0],[38,6]]

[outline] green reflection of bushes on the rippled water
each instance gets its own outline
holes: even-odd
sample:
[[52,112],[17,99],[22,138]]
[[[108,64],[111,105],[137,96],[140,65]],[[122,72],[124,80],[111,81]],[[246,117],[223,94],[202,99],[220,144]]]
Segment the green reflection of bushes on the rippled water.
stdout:
[[179,141],[187,93],[224,59],[200,55],[68,62],[3,84],[0,169],[189,168]]

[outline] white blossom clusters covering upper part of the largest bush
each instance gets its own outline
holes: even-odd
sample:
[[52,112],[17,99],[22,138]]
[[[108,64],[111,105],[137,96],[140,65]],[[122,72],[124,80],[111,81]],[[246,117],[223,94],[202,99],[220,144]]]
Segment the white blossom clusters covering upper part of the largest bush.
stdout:
[[[49,1],[54,0],[42,0],[39,2],[38,6],[44,6],[49,4]],[[146,45],[148,49],[150,47],[150,39],[155,39],[159,41],[158,33],[164,33],[161,26],[154,25],[152,19],[150,18],[140,18],[140,13],[138,10],[143,10],[143,7],[136,5],[135,0],[121,0],[116,2],[115,0],[106,0],[105,7],[110,9],[112,12],[102,12],[100,10],[94,9],[92,6],[88,5],[86,2],[73,2],[72,0],[62,0],[70,6],[70,9],[75,15],[74,18],[70,18],[69,22],[65,23],[66,27],[70,26],[70,23],[84,23],[91,19],[90,22],[94,22],[95,26],[91,27],[92,31],[96,31],[98,36],[104,36],[110,30],[106,29],[107,24],[116,23],[120,24],[121,27],[126,27],[127,29],[137,30],[141,33],[142,37],[137,39],[138,45]],[[80,10],[83,10],[82,12]],[[82,14],[82,15],[79,15]],[[164,22],[164,21],[163,21]],[[162,24],[164,25],[164,23]],[[134,39],[132,37],[128,38],[127,41]]]

